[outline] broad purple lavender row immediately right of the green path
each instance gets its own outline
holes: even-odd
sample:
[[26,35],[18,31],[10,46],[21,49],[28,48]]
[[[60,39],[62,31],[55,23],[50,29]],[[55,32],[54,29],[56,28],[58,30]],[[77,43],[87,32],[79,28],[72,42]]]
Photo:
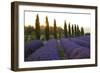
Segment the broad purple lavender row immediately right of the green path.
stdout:
[[61,39],[61,45],[69,59],[90,58],[90,48],[82,47],[69,39]]

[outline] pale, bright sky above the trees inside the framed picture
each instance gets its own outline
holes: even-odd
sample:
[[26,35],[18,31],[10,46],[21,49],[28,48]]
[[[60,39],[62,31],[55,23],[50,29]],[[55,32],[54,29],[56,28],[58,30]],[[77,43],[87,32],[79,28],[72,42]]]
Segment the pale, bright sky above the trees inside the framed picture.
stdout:
[[[36,15],[39,15],[40,25],[45,26],[45,18],[48,16],[49,25],[53,26],[54,19],[58,27],[64,27],[64,21],[67,24],[77,24],[79,27],[84,27],[85,32],[90,32],[90,14],[70,13],[70,12],[47,12],[47,11],[25,11],[25,26],[34,26]],[[84,19],[84,20],[83,20]]]

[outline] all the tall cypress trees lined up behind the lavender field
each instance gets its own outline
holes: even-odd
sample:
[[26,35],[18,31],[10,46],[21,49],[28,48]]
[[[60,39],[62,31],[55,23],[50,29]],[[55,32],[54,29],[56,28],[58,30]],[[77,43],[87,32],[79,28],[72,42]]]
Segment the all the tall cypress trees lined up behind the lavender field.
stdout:
[[[46,21],[45,21],[45,39],[49,40],[49,21],[48,17],[46,16]],[[36,16],[36,22],[35,22],[35,35],[37,39],[40,39],[41,33],[40,33],[40,22],[39,22],[39,15],[37,14]],[[77,37],[77,36],[83,36],[84,35],[84,28],[81,27],[79,29],[79,26],[74,24],[70,25],[70,23],[66,24],[66,21],[64,22],[64,37]],[[57,39],[57,26],[56,26],[56,20],[54,19],[54,38]]]

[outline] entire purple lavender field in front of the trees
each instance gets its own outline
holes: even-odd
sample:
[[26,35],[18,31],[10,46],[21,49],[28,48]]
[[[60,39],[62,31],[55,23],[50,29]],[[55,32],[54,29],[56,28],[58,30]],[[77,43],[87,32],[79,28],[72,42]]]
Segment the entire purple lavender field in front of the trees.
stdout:
[[67,60],[90,58],[90,36],[32,40],[25,44],[25,61]]

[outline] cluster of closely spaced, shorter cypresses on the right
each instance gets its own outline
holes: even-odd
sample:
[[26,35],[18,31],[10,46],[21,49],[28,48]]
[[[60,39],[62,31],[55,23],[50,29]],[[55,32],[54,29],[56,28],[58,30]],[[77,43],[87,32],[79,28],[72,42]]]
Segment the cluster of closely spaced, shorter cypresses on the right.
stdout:
[[72,24],[72,26],[70,25],[70,23],[66,24],[66,21],[64,22],[64,35],[65,37],[78,37],[78,36],[84,36],[84,28],[81,27],[81,29],[79,29],[79,26],[76,24]]

